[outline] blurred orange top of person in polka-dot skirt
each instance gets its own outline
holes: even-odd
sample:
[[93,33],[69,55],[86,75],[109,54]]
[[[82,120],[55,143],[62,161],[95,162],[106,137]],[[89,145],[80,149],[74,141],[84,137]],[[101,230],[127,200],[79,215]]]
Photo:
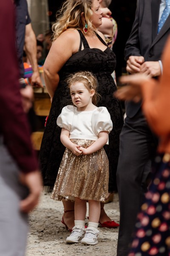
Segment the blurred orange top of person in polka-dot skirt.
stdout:
[[143,111],[153,131],[159,136],[160,152],[170,153],[170,38],[162,58],[163,74],[159,81],[142,84]]

